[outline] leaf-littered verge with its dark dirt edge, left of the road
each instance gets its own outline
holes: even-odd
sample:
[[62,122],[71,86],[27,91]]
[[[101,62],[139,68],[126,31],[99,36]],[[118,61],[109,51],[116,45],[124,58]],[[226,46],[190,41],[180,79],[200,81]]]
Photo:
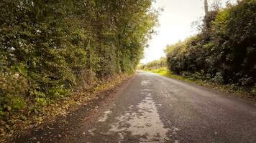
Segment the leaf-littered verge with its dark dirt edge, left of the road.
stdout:
[[[121,87],[133,76],[134,74],[116,75],[91,89],[83,90],[54,104],[49,104],[42,108],[41,114],[32,115],[10,127],[12,131],[1,136],[0,142],[25,142],[28,137],[32,137],[31,139],[34,139],[35,142],[37,138],[34,135],[42,133],[43,129],[53,129],[60,127],[60,124],[61,126],[68,124],[67,117],[70,113],[81,111],[87,114],[90,109],[94,108],[95,104],[98,104],[97,102],[108,97],[111,92]],[[58,130],[58,132],[60,131],[61,129]]]

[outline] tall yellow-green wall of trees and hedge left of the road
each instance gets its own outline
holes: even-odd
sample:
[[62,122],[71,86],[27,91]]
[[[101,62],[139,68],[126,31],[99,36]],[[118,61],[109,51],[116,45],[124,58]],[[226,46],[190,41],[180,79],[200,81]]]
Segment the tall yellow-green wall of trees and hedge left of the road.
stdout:
[[151,5],[152,0],[2,0],[3,119],[134,72],[157,24]]

